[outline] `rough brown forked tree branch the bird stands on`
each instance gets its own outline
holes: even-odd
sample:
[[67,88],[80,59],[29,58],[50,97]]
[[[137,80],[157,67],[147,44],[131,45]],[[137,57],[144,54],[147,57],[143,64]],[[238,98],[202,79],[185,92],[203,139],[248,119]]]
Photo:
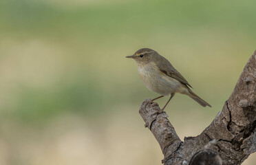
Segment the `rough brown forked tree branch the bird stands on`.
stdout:
[[255,107],[256,51],[244,67],[222,111],[200,135],[185,137],[182,142],[167,119],[167,113],[161,111],[158,104],[150,99],[142,103],[139,112],[146,122],[145,126],[160,144],[164,165],[234,165],[242,164],[256,151]]

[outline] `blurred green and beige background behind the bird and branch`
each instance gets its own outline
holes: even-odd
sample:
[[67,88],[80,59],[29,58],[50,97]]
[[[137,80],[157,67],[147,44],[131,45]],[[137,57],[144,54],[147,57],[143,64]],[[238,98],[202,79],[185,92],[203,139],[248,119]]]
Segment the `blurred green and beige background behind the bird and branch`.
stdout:
[[[166,111],[198,135],[256,49],[256,1],[1,0],[0,164],[161,164],[138,114],[158,94],[125,56],[165,56],[213,108],[175,95]],[[168,98],[158,100],[160,107]],[[255,154],[244,164],[255,164]]]

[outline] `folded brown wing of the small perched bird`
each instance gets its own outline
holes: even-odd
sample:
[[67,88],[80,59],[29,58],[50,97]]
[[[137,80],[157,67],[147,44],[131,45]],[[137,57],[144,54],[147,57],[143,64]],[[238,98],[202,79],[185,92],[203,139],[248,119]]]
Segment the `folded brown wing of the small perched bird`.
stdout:
[[160,72],[167,76],[170,76],[171,78],[175,78],[184,85],[191,87],[186,79],[173,67],[173,65],[171,65],[171,63],[166,58],[164,58],[163,56],[161,56],[160,58],[162,59],[156,62],[156,65],[160,69]]

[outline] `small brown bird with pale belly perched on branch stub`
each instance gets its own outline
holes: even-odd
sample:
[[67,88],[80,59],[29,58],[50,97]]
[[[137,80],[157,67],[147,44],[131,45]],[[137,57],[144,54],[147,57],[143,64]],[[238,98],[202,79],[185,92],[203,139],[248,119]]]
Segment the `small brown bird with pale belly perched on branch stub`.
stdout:
[[[175,93],[185,94],[193,98],[193,100],[203,107],[211,107],[209,103],[191,91],[189,88],[191,85],[189,85],[186,79],[166,58],[158,54],[158,52],[149,48],[142,48],[135,52],[134,55],[126,57],[134,58],[138,65],[140,78],[148,89],[161,95],[158,98],[171,95],[162,110],[167,107],[167,104]],[[153,100],[158,98],[154,98]]]

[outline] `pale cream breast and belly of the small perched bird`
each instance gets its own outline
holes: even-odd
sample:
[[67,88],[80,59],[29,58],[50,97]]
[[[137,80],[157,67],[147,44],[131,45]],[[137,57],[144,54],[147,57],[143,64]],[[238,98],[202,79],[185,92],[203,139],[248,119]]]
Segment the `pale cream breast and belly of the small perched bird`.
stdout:
[[168,96],[174,93],[186,93],[187,91],[182,83],[162,74],[156,66],[138,66],[138,73],[146,87],[160,95]]

